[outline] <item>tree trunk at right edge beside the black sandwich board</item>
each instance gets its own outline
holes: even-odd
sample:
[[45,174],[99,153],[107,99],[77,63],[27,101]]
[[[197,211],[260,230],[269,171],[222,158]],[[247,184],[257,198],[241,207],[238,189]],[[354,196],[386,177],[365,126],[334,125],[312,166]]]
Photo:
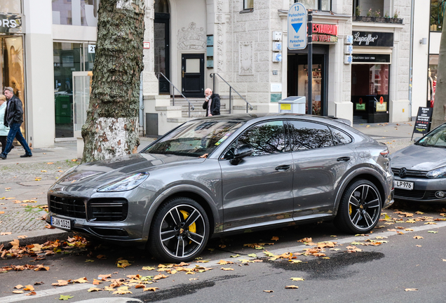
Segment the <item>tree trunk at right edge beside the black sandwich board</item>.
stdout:
[[[446,13],[443,16],[444,25],[446,25]],[[446,34],[441,35],[439,54],[431,130],[446,121]]]

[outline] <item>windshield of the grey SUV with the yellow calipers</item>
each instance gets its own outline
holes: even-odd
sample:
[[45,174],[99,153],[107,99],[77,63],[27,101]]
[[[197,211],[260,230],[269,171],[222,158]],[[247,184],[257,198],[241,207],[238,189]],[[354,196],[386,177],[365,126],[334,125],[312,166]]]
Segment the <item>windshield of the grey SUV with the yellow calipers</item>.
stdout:
[[242,125],[240,121],[190,121],[161,137],[143,153],[207,157]]

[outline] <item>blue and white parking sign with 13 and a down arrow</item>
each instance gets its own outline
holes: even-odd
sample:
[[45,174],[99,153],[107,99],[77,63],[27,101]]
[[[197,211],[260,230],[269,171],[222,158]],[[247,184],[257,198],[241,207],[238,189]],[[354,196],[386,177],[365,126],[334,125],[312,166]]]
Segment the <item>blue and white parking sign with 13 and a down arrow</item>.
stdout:
[[306,48],[306,8],[301,3],[295,3],[288,11],[288,48]]

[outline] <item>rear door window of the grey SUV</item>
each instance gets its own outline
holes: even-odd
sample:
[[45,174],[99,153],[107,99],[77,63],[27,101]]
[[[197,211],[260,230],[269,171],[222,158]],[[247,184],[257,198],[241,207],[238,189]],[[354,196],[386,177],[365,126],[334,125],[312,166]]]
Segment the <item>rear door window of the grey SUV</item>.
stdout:
[[334,145],[332,133],[328,126],[306,121],[288,121],[288,123],[293,151]]

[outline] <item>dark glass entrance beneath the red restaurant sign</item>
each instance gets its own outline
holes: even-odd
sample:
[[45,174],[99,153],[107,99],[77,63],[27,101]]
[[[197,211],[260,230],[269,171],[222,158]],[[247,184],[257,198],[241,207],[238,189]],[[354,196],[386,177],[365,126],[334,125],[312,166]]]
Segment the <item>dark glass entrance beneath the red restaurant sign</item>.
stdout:
[[313,73],[312,113],[327,116],[327,46],[314,46],[313,66],[308,67],[308,55],[288,51],[287,96],[305,96],[308,100],[308,72]]

